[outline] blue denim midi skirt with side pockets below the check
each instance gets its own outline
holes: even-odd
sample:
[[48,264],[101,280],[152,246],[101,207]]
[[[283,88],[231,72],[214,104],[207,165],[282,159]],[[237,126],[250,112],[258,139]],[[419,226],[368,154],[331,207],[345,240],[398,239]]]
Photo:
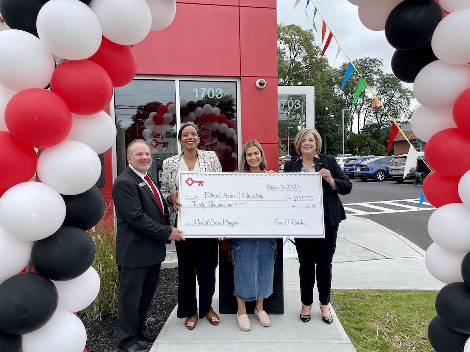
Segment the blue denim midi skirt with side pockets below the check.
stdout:
[[242,300],[268,298],[272,294],[276,240],[232,239],[231,247],[235,296]]

